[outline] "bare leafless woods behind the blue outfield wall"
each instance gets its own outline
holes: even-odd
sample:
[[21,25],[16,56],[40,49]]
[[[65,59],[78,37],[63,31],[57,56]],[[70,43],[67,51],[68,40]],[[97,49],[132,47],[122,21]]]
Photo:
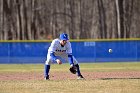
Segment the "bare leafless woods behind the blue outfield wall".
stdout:
[[139,38],[140,0],[0,0],[0,40]]

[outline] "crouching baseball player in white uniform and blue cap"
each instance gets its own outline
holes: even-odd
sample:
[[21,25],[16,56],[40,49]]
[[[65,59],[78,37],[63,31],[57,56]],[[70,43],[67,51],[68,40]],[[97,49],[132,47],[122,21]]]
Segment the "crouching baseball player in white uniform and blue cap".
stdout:
[[76,69],[75,73],[77,74],[77,79],[84,79],[84,77],[81,75],[78,61],[72,55],[72,48],[68,35],[65,33],[60,34],[58,39],[54,39],[48,49],[44,71],[45,80],[49,80],[49,71],[52,62],[56,62],[57,64],[69,62],[70,68]]

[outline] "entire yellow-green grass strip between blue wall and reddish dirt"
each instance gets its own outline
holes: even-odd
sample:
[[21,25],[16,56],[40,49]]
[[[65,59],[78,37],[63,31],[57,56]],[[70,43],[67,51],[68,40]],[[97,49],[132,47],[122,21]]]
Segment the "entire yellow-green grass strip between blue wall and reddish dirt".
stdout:
[[[81,63],[81,70],[94,72],[112,72],[112,71],[140,71],[140,62],[122,62],[122,63]],[[64,71],[68,69],[69,64],[52,64],[52,71]],[[42,72],[43,64],[0,64],[0,73],[2,72]]]

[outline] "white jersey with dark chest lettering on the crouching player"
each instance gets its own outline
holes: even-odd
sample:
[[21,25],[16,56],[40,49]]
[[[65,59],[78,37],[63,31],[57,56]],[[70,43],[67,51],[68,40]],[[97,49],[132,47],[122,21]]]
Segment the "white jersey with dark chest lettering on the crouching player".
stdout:
[[54,52],[55,56],[66,56],[72,54],[71,43],[67,41],[65,46],[61,46],[60,39],[54,39],[48,49],[48,55]]

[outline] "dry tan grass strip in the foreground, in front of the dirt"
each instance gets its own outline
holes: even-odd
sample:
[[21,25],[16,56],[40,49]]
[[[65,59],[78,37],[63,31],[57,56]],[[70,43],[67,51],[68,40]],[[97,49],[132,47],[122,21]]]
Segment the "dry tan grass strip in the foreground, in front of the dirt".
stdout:
[[140,80],[0,81],[0,93],[140,93]]

